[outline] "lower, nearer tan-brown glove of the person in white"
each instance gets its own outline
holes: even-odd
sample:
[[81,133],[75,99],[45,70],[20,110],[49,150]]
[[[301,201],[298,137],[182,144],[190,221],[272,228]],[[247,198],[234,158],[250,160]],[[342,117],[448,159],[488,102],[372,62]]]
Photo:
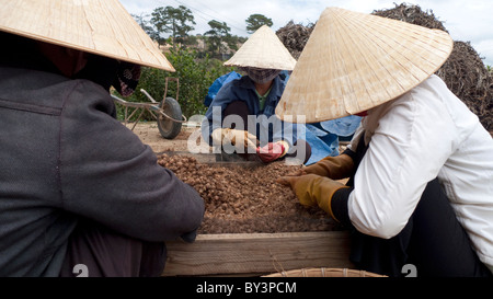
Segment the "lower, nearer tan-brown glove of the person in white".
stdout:
[[331,202],[332,196],[334,196],[337,189],[347,188],[344,184],[317,174],[282,176],[277,179],[277,183],[290,186],[301,205],[310,207],[319,206],[332,218],[337,220],[332,212]]

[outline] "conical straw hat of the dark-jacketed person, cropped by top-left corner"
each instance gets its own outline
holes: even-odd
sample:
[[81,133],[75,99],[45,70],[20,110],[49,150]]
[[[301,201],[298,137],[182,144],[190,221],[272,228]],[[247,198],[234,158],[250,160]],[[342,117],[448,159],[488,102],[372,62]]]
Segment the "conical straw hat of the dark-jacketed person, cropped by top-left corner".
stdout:
[[117,0],[2,1],[0,31],[174,71]]

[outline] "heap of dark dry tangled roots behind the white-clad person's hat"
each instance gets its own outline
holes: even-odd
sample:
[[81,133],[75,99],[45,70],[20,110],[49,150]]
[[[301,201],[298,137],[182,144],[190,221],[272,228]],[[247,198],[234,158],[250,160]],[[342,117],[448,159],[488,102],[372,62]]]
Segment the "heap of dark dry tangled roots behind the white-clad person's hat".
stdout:
[[[414,4],[395,4],[393,9],[376,10],[372,14],[448,32],[433,11],[423,11]],[[291,55],[298,59],[313,26],[313,24],[303,26],[289,22],[276,34]],[[492,131],[493,79],[470,43],[455,41],[450,57],[436,74],[445,81],[457,97],[478,115],[484,128]]]

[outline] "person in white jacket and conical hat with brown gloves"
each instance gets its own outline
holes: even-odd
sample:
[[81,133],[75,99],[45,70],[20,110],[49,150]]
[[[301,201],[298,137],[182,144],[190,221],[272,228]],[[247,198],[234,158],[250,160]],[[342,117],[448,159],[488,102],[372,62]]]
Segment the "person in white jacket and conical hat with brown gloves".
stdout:
[[493,140],[433,74],[451,49],[443,31],[328,8],[277,106],[307,123],[364,116],[343,154],[278,179],[353,232],[359,268],[492,276]]

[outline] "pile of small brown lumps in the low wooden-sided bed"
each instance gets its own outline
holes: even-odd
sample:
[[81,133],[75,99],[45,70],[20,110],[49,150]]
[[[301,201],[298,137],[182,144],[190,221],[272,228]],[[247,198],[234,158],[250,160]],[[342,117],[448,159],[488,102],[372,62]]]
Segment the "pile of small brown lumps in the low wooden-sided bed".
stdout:
[[284,162],[252,168],[215,166],[193,157],[158,156],[158,163],[194,187],[205,200],[198,233],[328,231],[341,229],[318,207],[299,204],[277,177],[299,166]]

